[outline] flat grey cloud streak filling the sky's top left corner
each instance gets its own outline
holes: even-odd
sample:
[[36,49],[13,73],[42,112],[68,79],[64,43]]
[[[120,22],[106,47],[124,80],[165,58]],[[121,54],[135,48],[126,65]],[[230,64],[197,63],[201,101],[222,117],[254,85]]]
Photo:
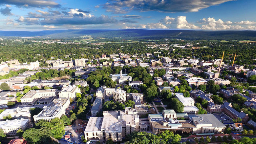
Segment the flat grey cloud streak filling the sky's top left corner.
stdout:
[[60,4],[53,0],[1,0],[0,4],[16,5],[18,7],[60,7]]

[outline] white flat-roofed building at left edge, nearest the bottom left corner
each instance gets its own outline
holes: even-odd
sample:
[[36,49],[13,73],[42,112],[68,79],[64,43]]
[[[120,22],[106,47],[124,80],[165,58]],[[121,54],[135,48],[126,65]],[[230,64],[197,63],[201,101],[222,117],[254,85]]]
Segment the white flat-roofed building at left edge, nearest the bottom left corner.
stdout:
[[22,118],[0,121],[0,128],[4,131],[5,134],[13,136],[17,134],[19,129],[25,131],[26,128],[30,128],[30,120]]

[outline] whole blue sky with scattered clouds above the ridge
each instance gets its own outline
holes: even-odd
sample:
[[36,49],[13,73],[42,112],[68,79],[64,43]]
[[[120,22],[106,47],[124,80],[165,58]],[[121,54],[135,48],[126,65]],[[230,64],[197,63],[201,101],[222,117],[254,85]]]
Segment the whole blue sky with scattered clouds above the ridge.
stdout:
[[0,30],[256,30],[256,0],[0,0]]

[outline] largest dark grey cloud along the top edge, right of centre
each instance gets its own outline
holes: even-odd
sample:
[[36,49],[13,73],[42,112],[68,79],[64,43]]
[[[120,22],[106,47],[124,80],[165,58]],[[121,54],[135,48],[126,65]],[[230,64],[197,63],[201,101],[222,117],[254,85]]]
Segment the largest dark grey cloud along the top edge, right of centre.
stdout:
[[103,8],[108,12],[127,13],[131,10],[160,12],[196,12],[233,0],[111,0]]

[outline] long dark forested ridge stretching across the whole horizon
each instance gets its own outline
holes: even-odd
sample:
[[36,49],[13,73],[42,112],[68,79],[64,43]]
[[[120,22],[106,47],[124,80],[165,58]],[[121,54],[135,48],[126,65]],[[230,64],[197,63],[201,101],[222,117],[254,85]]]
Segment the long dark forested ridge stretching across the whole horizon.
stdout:
[[125,39],[216,39],[216,40],[256,40],[256,31],[189,31],[189,30],[55,30],[55,31],[0,31],[1,36],[42,38],[74,38],[84,35]]

